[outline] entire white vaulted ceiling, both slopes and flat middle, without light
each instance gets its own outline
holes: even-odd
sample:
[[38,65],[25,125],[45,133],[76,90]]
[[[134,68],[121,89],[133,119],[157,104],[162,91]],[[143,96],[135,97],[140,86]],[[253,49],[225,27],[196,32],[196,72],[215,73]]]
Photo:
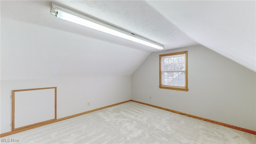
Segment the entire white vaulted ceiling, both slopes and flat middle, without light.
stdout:
[[[160,50],[50,14],[52,1],[0,1],[1,79],[131,75]],[[159,42],[204,45],[256,71],[255,1],[54,1]]]

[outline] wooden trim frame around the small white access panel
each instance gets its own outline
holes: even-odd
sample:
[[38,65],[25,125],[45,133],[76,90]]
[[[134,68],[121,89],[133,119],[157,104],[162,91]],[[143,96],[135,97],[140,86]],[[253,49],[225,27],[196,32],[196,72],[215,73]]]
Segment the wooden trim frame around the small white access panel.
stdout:
[[[55,100],[55,102],[54,102],[54,119],[45,120],[45,121],[38,122],[38,123],[35,123],[35,124],[29,124],[27,126],[22,126],[22,127],[19,127],[19,128],[15,128],[15,121],[14,121],[15,120],[15,92],[28,91],[28,90],[45,90],[45,89],[54,89],[54,100]],[[50,122],[50,121],[56,120],[56,118],[57,118],[57,87],[12,90],[12,131],[23,129],[23,128],[26,128],[26,127],[31,127],[31,126],[34,126],[34,125],[39,125],[39,124],[46,123],[46,122]]]

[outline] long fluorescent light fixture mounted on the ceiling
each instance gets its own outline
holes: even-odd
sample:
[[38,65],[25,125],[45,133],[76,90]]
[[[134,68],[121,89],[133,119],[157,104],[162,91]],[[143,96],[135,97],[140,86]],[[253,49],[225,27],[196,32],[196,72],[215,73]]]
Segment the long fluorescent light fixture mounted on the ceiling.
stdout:
[[134,42],[138,42],[140,44],[144,44],[146,46],[150,46],[152,48],[156,48],[159,50],[163,50],[164,46],[162,44],[158,44],[152,40],[148,40],[147,38],[143,38],[142,36],[135,35],[126,30],[122,30],[100,20],[96,20],[95,18],[91,18],[90,16],[86,16],[74,10],[70,10],[69,8],[65,8],[64,6],[60,6],[52,2],[51,14],[56,16],[57,18],[62,18],[64,20],[68,20],[70,22],[74,22],[76,24],[80,24],[82,26],[86,26],[89,28],[93,28],[95,30],[99,30],[101,32],[106,32],[108,34],[112,34],[114,36],[118,36],[121,38],[125,38],[127,40],[131,40]]

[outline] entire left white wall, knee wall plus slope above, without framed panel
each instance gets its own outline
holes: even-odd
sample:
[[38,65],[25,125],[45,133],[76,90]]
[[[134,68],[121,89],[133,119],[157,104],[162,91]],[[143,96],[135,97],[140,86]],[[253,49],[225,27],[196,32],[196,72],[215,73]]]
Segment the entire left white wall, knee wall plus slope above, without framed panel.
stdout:
[[11,131],[12,90],[56,86],[57,118],[78,114],[130,100],[130,75],[149,54],[1,17],[0,133]]

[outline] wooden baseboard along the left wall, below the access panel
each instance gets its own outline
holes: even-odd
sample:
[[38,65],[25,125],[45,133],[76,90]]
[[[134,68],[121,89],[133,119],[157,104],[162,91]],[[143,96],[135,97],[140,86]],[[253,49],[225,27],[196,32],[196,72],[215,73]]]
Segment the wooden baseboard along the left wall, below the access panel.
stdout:
[[25,130],[30,130],[30,129],[32,129],[32,128],[37,128],[37,127],[44,126],[44,125],[47,125],[47,124],[52,124],[52,123],[54,123],[54,122],[59,122],[59,121],[66,120],[66,119],[69,119],[69,118],[74,118],[74,117],[76,117],[76,116],[81,116],[81,115],[83,115],[83,114],[88,114],[88,113],[90,113],[90,112],[95,112],[95,111],[97,111],[97,110],[102,110],[102,109],[109,108],[109,107],[112,107],[112,106],[116,106],[116,105],[119,105],[119,104],[124,104],[124,103],[130,102],[130,101],[132,101],[132,100],[126,100],[126,101],[124,101],[124,102],[119,102],[119,103],[116,103],[116,104],[111,104],[111,105],[109,105],[109,106],[104,106],[104,107],[102,107],[102,108],[96,108],[96,109],[94,109],[94,110],[89,110],[89,111],[82,112],[82,113],[79,113],[79,114],[74,114],[74,115],[72,115],[72,116],[66,116],[66,117],[64,117],[64,118],[59,118],[59,119],[56,119],[56,120],[52,120],[52,121],[49,121],[49,122],[44,122],[44,123],[37,124],[37,125],[34,125],[34,126],[30,126],[30,127],[26,127],[26,128],[21,128],[21,129],[13,130],[13,131],[10,131],[10,132],[5,132],[5,133],[0,134],[0,138],[2,138],[2,137],[4,137],[4,136],[9,136],[9,135],[11,135],[11,134],[16,134],[16,133],[18,133],[18,132],[23,132],[23,131],[25,131]]

